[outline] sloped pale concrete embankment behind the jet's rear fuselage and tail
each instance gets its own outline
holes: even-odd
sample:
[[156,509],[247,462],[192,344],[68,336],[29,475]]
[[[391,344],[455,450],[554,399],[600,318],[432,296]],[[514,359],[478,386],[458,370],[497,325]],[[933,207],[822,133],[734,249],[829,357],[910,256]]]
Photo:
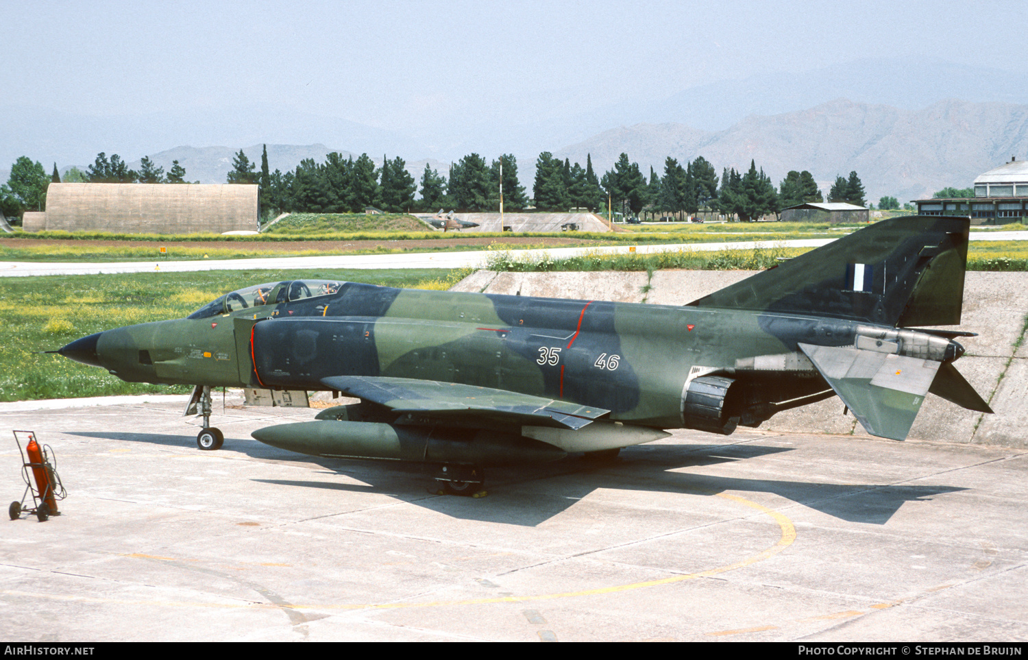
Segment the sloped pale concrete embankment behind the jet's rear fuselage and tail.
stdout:
[[[751,270],[647,272],[493,272],[478,270],[453,291],[549,298],[682,305],[743,280]],[[982,414],[931,395],[908,436],[912,440],[1028,446],[1028,273],[968,272],[960,328],[967,353],[957,366],[995,414]],[[760,427],[768,431],[867,435],[838,398],[787,410]]]

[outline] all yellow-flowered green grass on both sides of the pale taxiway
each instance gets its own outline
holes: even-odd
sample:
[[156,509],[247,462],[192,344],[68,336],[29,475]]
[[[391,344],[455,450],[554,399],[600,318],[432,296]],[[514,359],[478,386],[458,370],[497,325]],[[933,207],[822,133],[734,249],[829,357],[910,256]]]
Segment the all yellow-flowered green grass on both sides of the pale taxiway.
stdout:
[[[356,215],[356,214],[355,214]],[[372,216],[358,216],[363,219]],[[380,217],[380,216],[379,216]],[[321,230],[323,219],[315,217],[310,230]],[[327,222],[327,221],[326,221]],[[343,225],[334,225],[343,226]],[[350,226],[350,225],[346,225]],[[647,229],[650,227],[648,226]],[[837,236],[856,227],[783,223],[733,223],[728,225],[672,225],[673,231],[633,231],[624,233],[574,234],[520,234],[523,243],[493,250],[489,267],[498,270],[658,270],[662,268],[689,269],[760,269],[775,265],[780,259],[795,257],[805,249],[775,248],[766,250],[729,250],[694,253],[688,250],[655,255],[587,255],[573,259],[553,259],[543,254],[530,259],[518,257],[518,249],[546,247],[541,241],[546,236],[567,239],[574,235],[579,246],[642,245],[661,243],[704,243],[721,241],[783,241],[787,239]],[[1024,229],[1020,224],[997,227],[1002,230]],[[765,232],[767,230],[767,232]],[[989,229],[976,229],[988,231]],[[48,232],[53,234],[56,232]],[[169,236],[153,236],[147,241],[133,241],[132,245],[113,245],[123,241],[117,234],[89,232],[87,235],[63,234],[67,241],[34,241],[28,235],[0,240],[0,259],[19,261],[117,261],[154,259],[156,246]],[[203,234],[181,241],[199,241]],[[332,254],[326,250],[283,250],[280,240],[311,241],[311,234],[299,231],[294,234],[265,234],[261,236],[217,236],[219,247],[174,246],[172,259],[228,259],[254,256],[286,256],[290,254]],[[339,241],[341,235],[361,236],[351,241],[381,241],[390,236],[389,245],[376,245],[365,252],[401,252],[399,236],[431,239],[443,237],[440,232],[371,232],[367,234],[331,234]],[[448,234],[452,236],[452,234]],[[505,234],[461,234],[481,239],[490,236],[510,240]],[[104,236],[104,237],[101,237]],[[49,235],[50,239],[54,237]],[[105,239],[106,237],[106,239]],[[135,236],[138,237],[138,236]],[[76,239],[87,239],[80,241]],[[211,239],[210,235],[203,240]],[[231,239],[230,241],[227,239]],[[222,244],[221,241],[224,240]],[[241,244],[233,246],[232,241]],[[256,242],[257,249],[254,250]],[[263,243],[262,243],[263,242]],[[221,247],[224,245],[224,247]],[[370,245],[370,244],[369,244]],[[567,244],[564,244],[567,245]],[[265,247],[266,246],[266,247]],[[424,246],[419,250],[426,249]],[[431,249],[431,248],[428,248]],[[440,250],[462,249],[440,243]],[[481,249],[481,246],[464,246],[463,249]],[[353,250],[339,251],[354,254]],[[970,244],[967,267],[969,270],[1028,270],[1028,242],[976,241]],[[341,279],[397,287],[447,289],[466,271],[451,270],[243,270],[203,271],[186,273],[145,272],[124,276],[77,276],[0,279],[0,329],[8,340],[0,345],[0,401],[86,397],[114,394],[142,394],[149,392],[185,392],[164,386],[147,386],[122,382],[102,369],[80,365],[60,356],[39,352],[56,350],[78,337],[110,328],[182,318],[227,291],[260,282],[289,279]]]

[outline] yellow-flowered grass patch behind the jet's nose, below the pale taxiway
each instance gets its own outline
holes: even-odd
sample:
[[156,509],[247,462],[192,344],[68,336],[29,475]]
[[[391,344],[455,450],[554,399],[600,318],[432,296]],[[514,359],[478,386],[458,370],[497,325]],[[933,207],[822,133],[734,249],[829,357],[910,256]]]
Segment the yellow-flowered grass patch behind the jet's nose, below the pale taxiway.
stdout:
[[124,382],[54,351],[79,337],[121,326],[181,319],[223,293],[280,280],[346,280],[447,289],[461,270],[243,270],[0,280],[0,401],[185,393]]

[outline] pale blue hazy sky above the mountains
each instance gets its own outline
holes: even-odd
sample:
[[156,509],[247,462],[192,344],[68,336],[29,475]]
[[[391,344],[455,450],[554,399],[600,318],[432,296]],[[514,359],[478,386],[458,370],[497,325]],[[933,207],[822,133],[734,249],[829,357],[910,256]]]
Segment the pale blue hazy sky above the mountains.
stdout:
[[[465,126],[487,135],[502,123],[867,58],[1023,75],[1026,34],[1028,3],[1020,1],[5,0],[0,110],[199,117],[205,109],[261,103],[431,146],[433,135],[449,131],[452,143],[460,138],[452,132]],[[277,139],[263,127],[255,133],[255,141]],[[35,153],[30,147],[16,148]],[[40,148],[39,157],[51,151]]]

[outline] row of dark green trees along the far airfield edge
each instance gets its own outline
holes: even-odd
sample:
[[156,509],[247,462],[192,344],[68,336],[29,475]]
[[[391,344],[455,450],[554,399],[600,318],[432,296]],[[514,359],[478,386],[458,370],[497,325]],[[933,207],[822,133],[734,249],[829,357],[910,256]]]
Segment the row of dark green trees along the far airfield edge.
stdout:
[[[792,171],[776,188],[755,160],[746,172],[725,168],[719,177],[714,166],[703,156],[686,162],[668,156],[663,172],[651,168],[647,177],[638,163],[622,153],[610,171],[598,175],[591,155],[586,156],[582,167],[544,151],[536,160],[531,197],[518,180],[517,159],[513,154],[503,154],[487,162],[483,156],[471,153],[451,164],[445,176],[426,164],[417,182],[407,172],[403,158],[382,156],[381,163],[376,167],[366,153],[355,158],[332,152],[323,162],[307,158],[295,170],[270,172],[265,146],[259,170],[241,149],[226,182],[258,184],[265,214],[359,213],[367,207],[398,213],[439,209],[495,211],[500,206],[501,177],[504,208],[508,211],[535,207],[539,211],[584,209],[605,213],[610,207],[630,216],[644,210],[669,214],[706,210],[749,221],[794,205],[825,200],[810,172]],[[108,158],[101,152],[85,172],[72,168],[65,181],[175,184],[187,183],[185,176],[185,169],[178,160],[166,173],[146,156],[135,171],[118,154]],[[42,210],[46,186],[52,181],[61,181],[56,163],[52,175],[47,176],[39,162],[22,156],[12,166],[7,184],[0,186],[0,210],[7,216]],[[827,200],[866,206],[865,196],[857,173],[850,172],[849,177],[836,178]],[[883,196],[879,200],[881,209],[898,207],[895,197]]]

